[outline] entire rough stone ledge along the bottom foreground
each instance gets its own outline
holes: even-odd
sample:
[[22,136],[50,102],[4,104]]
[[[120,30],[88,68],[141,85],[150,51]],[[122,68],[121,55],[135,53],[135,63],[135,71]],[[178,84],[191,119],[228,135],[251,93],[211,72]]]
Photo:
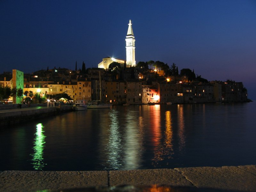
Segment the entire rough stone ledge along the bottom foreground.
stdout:
[[4,171],[0,191],[256,191],[256,166],[127,171]]

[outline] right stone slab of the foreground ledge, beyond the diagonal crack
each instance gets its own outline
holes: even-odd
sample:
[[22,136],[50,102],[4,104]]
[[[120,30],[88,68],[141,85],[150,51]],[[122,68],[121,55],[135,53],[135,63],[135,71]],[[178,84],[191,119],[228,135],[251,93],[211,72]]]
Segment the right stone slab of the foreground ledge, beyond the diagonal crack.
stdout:
[[[175,168],[197,188],[256,191],[256,166]],[[253,173],[254,172],[254,173]]]

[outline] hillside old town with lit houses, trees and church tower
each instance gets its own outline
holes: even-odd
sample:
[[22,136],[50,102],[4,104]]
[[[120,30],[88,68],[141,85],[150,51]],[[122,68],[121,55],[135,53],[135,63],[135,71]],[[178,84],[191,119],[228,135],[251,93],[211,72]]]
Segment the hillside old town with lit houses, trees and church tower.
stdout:
[[126,35],[126,60],[103,58],[98,68],[52,68],[24,74],[13,69],[0,75],[0,100],[3,103],[43,103],[45,100],[100,100],[102,103],[207,103],[245,102],[247,90],[242,82],[208,81],[194,69],[178,70],[161,61],[135,61],[132,21]]

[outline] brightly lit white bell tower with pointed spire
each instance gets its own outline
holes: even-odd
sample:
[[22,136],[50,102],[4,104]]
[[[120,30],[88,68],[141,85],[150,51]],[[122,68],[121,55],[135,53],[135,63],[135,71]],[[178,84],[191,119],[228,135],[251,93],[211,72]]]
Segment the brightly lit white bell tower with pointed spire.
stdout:
[[126,65],[134,67],[136,65],[135,61],[135,38],[132,31],[132,21],[129,22],[129,27],[126,36]]

